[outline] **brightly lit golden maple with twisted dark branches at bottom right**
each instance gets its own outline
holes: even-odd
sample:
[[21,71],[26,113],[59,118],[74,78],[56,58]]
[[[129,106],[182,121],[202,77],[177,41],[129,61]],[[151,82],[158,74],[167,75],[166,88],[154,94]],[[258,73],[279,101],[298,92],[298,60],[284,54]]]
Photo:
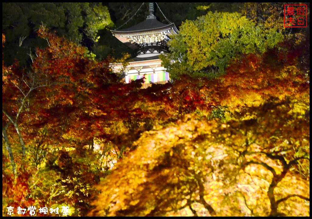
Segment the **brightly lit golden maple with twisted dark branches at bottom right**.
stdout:
[[99,186],[92,215],[309,215],[310,123],[306,107],[289,113],[295,105],[276,98],[230,121],[191,114],[145,132]]

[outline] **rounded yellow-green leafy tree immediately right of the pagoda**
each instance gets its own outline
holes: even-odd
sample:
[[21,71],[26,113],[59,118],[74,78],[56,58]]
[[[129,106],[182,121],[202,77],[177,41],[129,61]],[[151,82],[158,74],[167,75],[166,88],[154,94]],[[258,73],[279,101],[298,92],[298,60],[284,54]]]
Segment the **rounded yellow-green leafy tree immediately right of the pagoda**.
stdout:
[[214,78],[225,73],[236,55],[263,53],[282,38],[276,29],[265,29],[239,13],[208,12],[181,25],[168,43],[171,53],[162,60],[172,78],[182,74]]

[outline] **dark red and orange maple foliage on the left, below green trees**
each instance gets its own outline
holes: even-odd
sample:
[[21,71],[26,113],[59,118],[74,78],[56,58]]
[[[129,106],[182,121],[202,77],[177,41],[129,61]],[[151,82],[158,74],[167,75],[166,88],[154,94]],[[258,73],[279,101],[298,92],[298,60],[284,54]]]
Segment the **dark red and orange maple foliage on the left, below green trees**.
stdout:
[[[68,203],[75,207],[74,214],[84,214],[93,191],[90,185],[105,175],[105,153],[93,152],[94,139],[112,139],[113,123],[141,113],[133,108],[135,102],[125,101],[141,83],[122,83],[108,62],[97,63],[85,48],[43,26],[38,34],[49,47],[37,50],[31,69],[2,62],[2,136],[12,169],[5,167],[6,203]],[[119,149],[122,153],[126,148]],[[22,196],[9,198],[20,178],[27,185],[20,189]],[[23,199],[32,201],[20,202]]]

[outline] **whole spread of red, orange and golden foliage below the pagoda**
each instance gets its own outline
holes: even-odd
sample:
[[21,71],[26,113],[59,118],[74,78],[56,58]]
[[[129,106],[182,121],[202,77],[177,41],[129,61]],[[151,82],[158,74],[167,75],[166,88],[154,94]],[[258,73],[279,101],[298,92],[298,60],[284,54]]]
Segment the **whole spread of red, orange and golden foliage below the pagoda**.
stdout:
[[30,68],[2,62],[3,215],[67,205],[71,216],[309,216],[304,41],[239,54],[220,78],[141,89],[38,34],[49,46]]

